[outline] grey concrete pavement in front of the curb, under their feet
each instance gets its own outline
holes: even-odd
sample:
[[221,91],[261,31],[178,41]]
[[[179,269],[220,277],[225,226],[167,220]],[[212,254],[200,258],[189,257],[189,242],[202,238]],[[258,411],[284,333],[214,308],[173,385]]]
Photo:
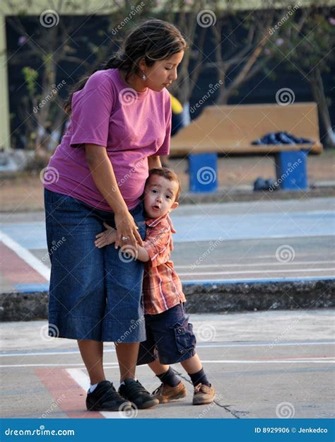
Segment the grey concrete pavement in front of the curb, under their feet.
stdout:
[[[180,364],[188,395],[132,417],[197,419],[334,417],[334,309],[194,314],[198,352],[216,403],[194,407],[192,385]],[[1,417],[121,417],[85,409],[88,377],[69,339],[47,336],[47,322],[1,324]],[[105,344],[107,378],[117,385],[113,344]],[[146,366],[139,380],[159,381]]]

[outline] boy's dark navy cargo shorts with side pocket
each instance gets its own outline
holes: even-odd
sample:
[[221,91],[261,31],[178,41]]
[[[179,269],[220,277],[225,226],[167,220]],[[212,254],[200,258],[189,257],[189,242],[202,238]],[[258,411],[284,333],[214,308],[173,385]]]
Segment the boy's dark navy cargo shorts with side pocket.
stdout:
[[177,364],[194,356],[196,337],[184,303],[158,315],[144,315],[146,341],[140,343],[137,365],[158,359],[160,364]]

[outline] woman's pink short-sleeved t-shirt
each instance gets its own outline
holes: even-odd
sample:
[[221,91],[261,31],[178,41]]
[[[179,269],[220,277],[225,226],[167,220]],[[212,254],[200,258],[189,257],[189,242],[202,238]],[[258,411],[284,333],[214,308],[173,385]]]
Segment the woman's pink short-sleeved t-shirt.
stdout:
[[148,177],[148,156],[168,155],[170,132],[170,94],[165,88],[139,93],[118,69],[97,71],[74,93],[69,127],[50,158],[45,187],[112,211],[86,161],[84,144],[98,144],[107,149],[122,197],[133,209]]

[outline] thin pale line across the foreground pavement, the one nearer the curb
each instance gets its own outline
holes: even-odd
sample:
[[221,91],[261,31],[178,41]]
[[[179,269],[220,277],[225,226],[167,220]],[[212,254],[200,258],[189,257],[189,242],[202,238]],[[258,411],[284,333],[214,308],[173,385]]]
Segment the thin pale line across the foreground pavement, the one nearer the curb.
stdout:
[[[302,345],[334,345],[335,341],[327,341],[327,342],[310,342],[310,341],[302,341],[302,342],[262,342],[262,343],[254,343],[254,342],[237,342],[236,344],[220,344],[215,342],[199,342],[196,344],[197,348],[206,349],[206,348],[226,348],[226,347],[291,347],[298,345],[299,347]],[[104,349],[104,353],[115,352],[114,348]],[[71,350],[71,351],[32,351],[31,353],[4,353],[0,354],[0,357],[16,357],[16,356],[53,356],[58,354],[79,354],[79,350]],[[106,362],[106,364],[116,364],[116,362]],[[63,364],[60,364],[63,365]],[[76,365],[76,364],[69,364]],[[105,365],[105,364],[104,364]]]

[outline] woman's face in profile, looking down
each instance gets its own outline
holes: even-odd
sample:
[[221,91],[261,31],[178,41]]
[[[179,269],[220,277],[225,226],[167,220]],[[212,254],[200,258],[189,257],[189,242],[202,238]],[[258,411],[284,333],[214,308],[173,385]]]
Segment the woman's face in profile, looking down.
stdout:
[[182,62],[182,57],[184,57],[184,51],[177,52],[177,54],[173,54],[165,60],[155,62],[150,67],[144,64],[142,70],[147,78],[143,81],[143,86],[156,92],[170,86],[172,81],[177,79],[177,67]]

